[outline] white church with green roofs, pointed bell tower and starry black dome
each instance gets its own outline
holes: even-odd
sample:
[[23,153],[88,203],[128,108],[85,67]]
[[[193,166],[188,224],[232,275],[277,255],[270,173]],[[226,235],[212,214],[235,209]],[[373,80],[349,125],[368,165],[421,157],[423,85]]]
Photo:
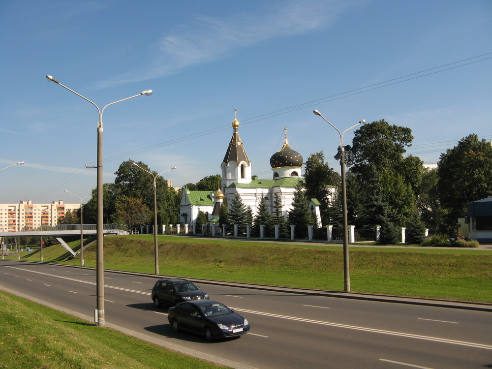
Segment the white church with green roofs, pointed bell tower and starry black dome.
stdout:
[[[217,184],[217,190],[210,191],[190,191],[183,190],[183,197],[180,204],[181,222],[193,225],[196,223],[198,212],[202,211],[209,223],[217,223],[220,206],[224,201],[229,208],[236,196],[239,194],[246,207],[251,207],[253,216],[257,213],[257,208],[262,197],[265,197],[270,206],[270,213],[273,213],[275,194],[281,199],[282,212],[288,216],[292,210],[294,191],[299,182],[304,182],[301,177],[303,156],[292,150],[287,141],[287,128],[284,128],[283,147],[270,157],[272,167],[272,179],[259,179],[258,176],[251,175],[252,164],[246,154],[246,149],[239,136],[239,122],[234,110],[234,121],[232,122],[233,134],[229,146],[220,164],[221,183]],[[331,196],[335,194],[335,187],[330,188]],[[224,200],[225,199],[225,200]],[[311,199],[311,209],[316,215],[318,224],[321,225],[319,211],[319,201]]]

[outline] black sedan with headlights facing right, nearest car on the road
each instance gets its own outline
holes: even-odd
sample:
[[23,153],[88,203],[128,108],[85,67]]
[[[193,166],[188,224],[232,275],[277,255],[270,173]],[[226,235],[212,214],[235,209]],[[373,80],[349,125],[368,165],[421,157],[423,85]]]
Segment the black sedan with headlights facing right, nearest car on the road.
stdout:
[[237,337],[249,331],[247,319],[213,300],[184,302],[170,307],[167,319],[174,332],[196,333],[207,341]]

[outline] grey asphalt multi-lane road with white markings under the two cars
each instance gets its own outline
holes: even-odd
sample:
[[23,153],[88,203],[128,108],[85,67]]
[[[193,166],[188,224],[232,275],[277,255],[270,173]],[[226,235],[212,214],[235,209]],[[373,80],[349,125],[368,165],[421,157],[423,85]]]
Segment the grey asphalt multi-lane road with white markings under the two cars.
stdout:
[[[209,343],[172,331],[167,309],[152,304],[155,280],[106,271],[107,325],[222,358],[233,367],[238,363],[237,368],[492,367],[491,312],[201,282],[211,299],[235,308],[251,324],[241,338]],[[2,260],[0,289],[94,315],[93,269]]]

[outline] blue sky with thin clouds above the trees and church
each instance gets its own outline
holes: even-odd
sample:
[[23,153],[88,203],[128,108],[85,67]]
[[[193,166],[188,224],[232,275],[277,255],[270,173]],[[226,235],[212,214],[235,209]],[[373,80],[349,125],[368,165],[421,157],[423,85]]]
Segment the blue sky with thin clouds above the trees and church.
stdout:
[[[0,203],[85,197],[142,161],[173,186],[220,173],[239,134],[260,178],[281,149],[334,159],[336,129],[412,129],[406,154],[436,163],[492,139],[491,0],[2,0]],[[354,130],[343,136],[351,144]],[[85,200],[87,201],[87,199]],[[85,202],[84,201],[84,202]]]

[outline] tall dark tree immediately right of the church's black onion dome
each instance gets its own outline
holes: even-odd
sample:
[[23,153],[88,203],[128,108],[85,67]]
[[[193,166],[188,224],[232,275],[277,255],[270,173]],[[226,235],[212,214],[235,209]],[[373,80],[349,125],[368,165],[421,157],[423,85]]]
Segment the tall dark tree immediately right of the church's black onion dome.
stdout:
[[305,163],[306,196],[320,203],[321,222],[328,224],[327,210],[330,206],[328,186],[339,186],[341,178],[328,163],[323,152],[309,155]]

